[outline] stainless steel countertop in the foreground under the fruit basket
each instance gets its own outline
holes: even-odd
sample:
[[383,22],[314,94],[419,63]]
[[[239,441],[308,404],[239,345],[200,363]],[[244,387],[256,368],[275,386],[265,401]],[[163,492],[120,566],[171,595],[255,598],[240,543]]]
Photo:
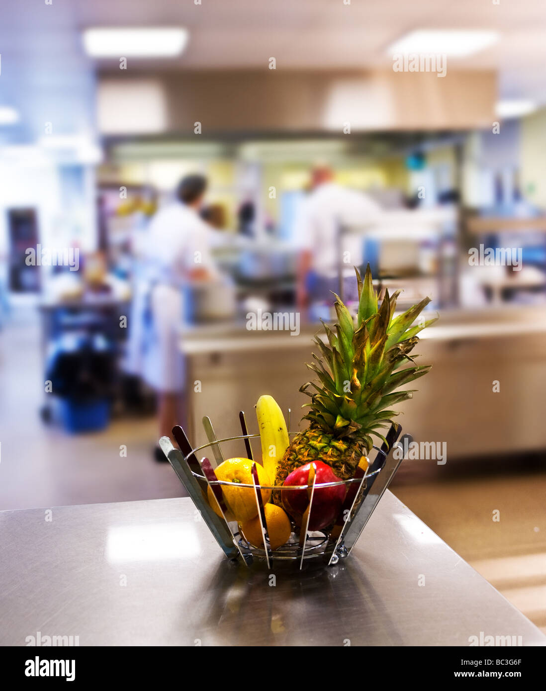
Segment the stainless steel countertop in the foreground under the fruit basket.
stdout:
[[[392,494],[338,567],[223,557],[189,499],[0,513],[0,643],[469,645],[546,637]],[[273,572],[271,572],[273,573]],[[423,585],[420,585],[422,583]]]

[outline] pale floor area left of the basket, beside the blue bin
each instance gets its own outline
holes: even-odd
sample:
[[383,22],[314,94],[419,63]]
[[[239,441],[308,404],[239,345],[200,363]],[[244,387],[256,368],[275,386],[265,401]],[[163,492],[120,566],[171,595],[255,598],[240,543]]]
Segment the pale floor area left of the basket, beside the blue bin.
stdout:
[[0,510],[181,495],[171,466],[152,459],[153,417],[120,419],[86,435],[41,422],[46,394],[39,335],[28,309],[0,331]]

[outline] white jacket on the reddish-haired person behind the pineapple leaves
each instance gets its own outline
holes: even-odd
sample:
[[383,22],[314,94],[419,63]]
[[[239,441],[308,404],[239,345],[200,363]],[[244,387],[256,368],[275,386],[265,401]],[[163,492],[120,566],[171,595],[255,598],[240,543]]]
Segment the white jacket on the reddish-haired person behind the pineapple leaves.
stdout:
[[[294,223],[294,240],[300,249],[308,249],[312,269],[323,278],[334,278],[343,261],[339,256],[338,229],[343,225],[367,225],[382,213],[368,195],[325,182],[303,200]],[[362,238],[343,236],[342,252],[348,252],[348,269],[362,263]]]

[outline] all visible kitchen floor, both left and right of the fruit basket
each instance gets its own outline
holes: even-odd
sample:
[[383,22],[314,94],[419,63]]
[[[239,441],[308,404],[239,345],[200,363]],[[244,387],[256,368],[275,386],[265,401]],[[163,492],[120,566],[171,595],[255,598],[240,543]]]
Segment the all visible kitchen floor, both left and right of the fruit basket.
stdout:
[[[0,332],[0,510],[182,495],[170,466],[151,458],[153,418],[66,435],[39,419],[43,380],[37,316],[21,310]],[[399,477],[395,494],[546,632],[546,473]]]

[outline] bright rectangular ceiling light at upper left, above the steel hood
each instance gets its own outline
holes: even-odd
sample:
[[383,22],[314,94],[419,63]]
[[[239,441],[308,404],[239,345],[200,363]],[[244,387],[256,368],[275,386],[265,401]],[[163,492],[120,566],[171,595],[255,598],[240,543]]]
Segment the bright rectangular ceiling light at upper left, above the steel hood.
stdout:
[[173,57],[187,39],[182,28],[95,28],[84,31],[84,48],[91,57]]

